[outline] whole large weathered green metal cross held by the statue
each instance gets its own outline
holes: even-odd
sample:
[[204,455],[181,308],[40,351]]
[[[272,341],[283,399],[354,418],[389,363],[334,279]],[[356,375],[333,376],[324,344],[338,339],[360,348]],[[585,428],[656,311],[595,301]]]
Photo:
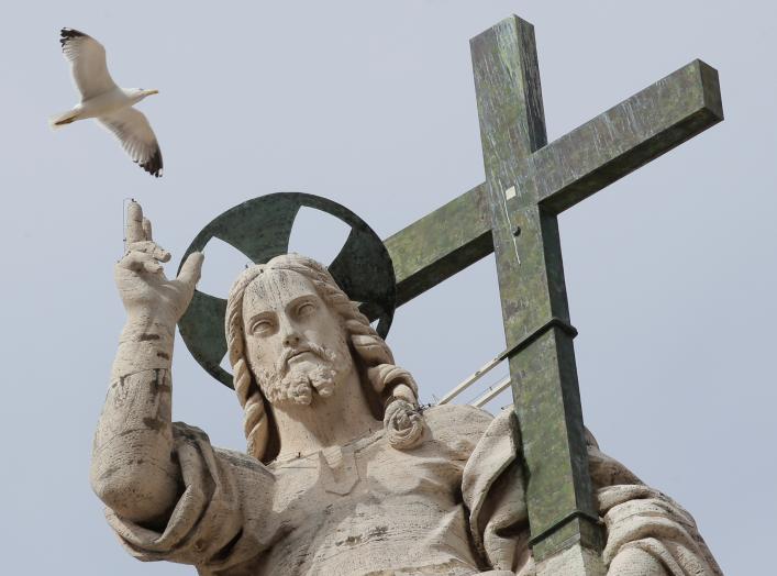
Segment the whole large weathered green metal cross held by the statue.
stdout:
[[533,26],[512,16],[470,47],[486,181],[386,241],[397,303],[496,254],[534,557],[577,551],[574,572],[597,574],[557,215],[720,122],[718,73],[695,60],[548,144]]

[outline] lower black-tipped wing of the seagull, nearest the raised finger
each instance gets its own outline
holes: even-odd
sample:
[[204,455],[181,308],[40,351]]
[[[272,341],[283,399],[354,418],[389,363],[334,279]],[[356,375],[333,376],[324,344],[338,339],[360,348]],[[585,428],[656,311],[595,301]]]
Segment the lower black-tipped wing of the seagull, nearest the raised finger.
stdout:
[[124,152],[152,176],[162,176],[162,151],[146,117],[132,107],[99,117],[100,124],[121,142]]

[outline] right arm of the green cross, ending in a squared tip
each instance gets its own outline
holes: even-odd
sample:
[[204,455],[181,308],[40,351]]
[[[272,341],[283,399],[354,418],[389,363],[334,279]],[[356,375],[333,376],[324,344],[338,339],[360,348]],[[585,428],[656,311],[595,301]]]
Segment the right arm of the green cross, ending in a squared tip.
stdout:
[[693,60],[522,159],[519,193],[558,214],[721,120],[718,71]]

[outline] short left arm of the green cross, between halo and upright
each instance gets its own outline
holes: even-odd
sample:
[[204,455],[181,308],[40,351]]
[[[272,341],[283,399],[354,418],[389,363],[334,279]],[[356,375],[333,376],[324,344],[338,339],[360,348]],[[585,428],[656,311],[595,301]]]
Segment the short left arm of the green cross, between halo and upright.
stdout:
[[485,182],[385,241],[397,277],[397,306],[493,252]]

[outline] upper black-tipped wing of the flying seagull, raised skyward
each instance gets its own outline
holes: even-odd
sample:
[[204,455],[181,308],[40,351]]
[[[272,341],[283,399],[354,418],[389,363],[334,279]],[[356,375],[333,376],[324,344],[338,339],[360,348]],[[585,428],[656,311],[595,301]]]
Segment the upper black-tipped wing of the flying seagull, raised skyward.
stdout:
[[81,92],[81,100],[88,100],[116,88],[113,78],[108,73],[106,48],[93,37],[64,27],[60,31],[62,52],[73,64],[73,79]]

